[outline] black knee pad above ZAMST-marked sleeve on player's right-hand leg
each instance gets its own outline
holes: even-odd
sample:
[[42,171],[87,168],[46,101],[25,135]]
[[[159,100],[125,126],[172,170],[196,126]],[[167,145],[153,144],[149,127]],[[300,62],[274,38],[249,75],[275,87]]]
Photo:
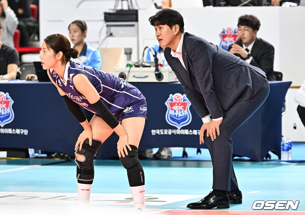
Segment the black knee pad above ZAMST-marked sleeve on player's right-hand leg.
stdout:
[[141,162],[138,159],[138,148],[134,145],[130,145],[130,148],[131,151],[127,148],[128,155],[125,155],[125,158],[123,158],[123,156],[120,157],[120,161],[124,168],[127,169],[127,172],[132,172],[142,168]]

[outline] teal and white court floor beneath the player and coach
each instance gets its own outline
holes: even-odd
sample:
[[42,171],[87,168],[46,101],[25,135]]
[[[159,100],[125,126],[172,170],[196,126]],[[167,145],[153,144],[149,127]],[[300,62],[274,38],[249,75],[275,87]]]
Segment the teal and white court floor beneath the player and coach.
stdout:
[[[209,153],[173,148],[173,159],[141,160],[145,171],[147,214],[158,215],[286,215],[305,214],[305,144],[293,143],[292,161],[271,159],[253,162],[233,160],[242,204],[229,209],[191,210],[190,202],[199,201],[211,191],[212,163]],[[0,159],[0,214],[134,214],[126,170],[119,160],[95,160],[95,179],[90,204],[77,204],[74,160]],[[253,210],[254,201],[299,201],[292,210]]]

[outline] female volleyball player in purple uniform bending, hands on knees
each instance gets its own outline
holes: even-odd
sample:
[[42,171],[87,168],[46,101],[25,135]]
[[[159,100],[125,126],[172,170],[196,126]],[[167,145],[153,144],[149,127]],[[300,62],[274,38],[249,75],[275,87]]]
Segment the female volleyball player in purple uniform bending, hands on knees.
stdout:
[[[119,136],[117,153],[127,169],[135,209],[145,211],[144,172],[138,159],[146,121],[145,97],[135,86],[117,76],[71,61],[78,52],[75,47],[71,49],[69,40],[63,35],[45,38],[41,50],[39,57],[43,69],[47,70],[68,110],[84,128],[75,144],[78,200],[89,201],[94,155],[114,131]],[[81,107],[95,114],[90,122]]]

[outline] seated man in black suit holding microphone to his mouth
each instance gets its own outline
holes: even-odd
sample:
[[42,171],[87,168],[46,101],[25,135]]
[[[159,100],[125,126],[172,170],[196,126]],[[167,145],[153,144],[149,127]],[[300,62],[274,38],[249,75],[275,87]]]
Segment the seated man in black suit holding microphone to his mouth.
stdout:
[[248,64],[262,69],[268,81],[275,81],[273,71],[274,47],[267,41],[257,38],[260,20],[253,15],[243,15],[238,19],[238,40],[228,47],[228,51]]

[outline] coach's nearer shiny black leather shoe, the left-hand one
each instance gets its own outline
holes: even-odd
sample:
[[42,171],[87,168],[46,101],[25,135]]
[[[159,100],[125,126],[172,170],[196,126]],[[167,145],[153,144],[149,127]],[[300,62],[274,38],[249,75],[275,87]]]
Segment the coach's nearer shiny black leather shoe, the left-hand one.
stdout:
[[210,192],[209,195],[201,199],[199,202],[189,203],[186,207],[191,209],[211,209],[214,207],[230,208],[230,200],[228,195],[217,197]]

